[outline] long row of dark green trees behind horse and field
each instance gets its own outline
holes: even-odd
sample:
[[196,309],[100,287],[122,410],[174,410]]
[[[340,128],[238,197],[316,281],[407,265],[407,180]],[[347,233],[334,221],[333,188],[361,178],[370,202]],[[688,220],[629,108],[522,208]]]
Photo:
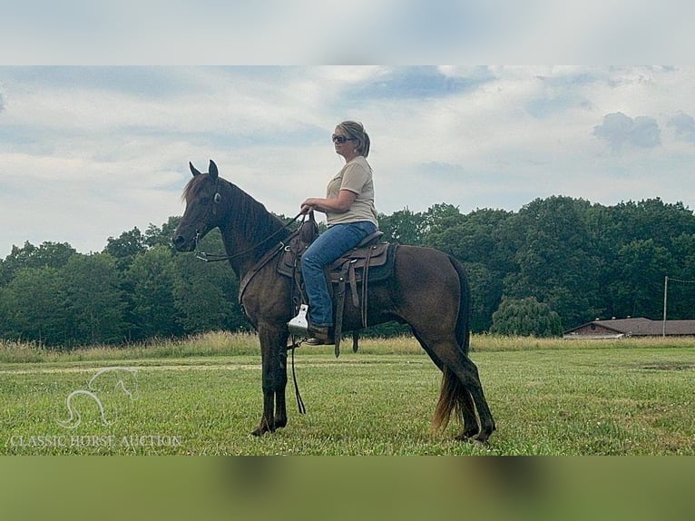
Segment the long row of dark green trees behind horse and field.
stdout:
[[[0,337],[69,349],[249,329],[230,267],[171,248],[178,221],[124,231],[98,253],[14,246],[0,261]],[[379,223],[389,241],[464,263],[475,332],[558,335],[595,318],[659,319],[664,278],[695,280],[695,215],[680,202],[553,196],[467,214],[443,203]],[[222,251],[220,234],[201,249]],[[692,310],[695,286],[671,284],[669,318],[695,319]]]

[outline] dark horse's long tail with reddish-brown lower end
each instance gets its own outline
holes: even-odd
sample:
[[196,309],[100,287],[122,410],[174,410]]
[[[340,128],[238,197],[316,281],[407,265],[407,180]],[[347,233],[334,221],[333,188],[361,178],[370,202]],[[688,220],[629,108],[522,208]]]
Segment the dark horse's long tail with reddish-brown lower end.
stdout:
[[[460,295],[458,301],[458,317],[456,319],[456,343],[458,347],[468,355],[470,349],[470,329],[471,329],[471,291],[468,286],[468,278],[465,275],[464,266],[454,257],[449,256],[452,266],[458,275]],[[449,424],[452,413],[455,418],[462,418],[465,400],[468,398],[468,391],[464,384],[455,375],[455,372],[448,367],[442,367],[442,389],[439,393],[435,409],[435,417],[432,419],[432,426],[435,430],[445,429]]]

